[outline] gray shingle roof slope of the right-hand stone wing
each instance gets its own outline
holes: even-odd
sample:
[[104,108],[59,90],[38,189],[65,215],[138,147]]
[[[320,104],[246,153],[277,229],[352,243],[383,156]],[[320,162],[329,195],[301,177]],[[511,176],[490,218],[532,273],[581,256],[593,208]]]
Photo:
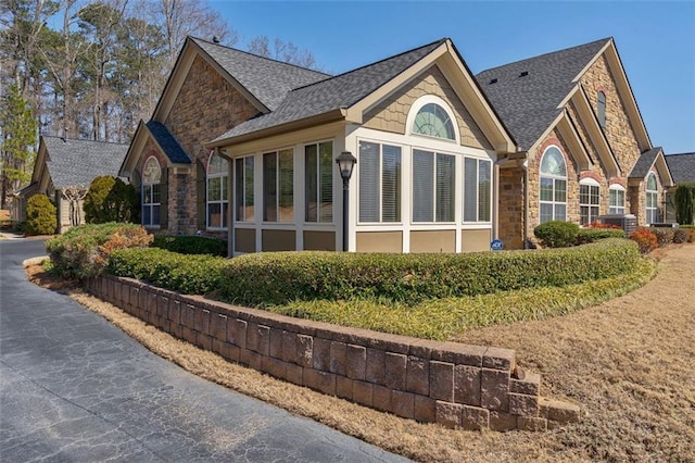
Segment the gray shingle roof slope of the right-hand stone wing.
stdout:
[[[522,150],[531,148],[560,114],[557,107],[574,87],[572,79],[609,40],[542,54],[476,75]],[[521,76],[522,73],[528,75]],[[496,82],[492,83],[493,79]]]

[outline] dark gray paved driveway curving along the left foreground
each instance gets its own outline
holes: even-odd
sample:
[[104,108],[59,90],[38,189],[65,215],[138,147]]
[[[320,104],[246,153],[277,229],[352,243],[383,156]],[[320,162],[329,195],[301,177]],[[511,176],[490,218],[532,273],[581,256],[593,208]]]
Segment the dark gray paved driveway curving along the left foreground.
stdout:
[[405,461],[191,375],[26,280],[0,241],[0,461]]

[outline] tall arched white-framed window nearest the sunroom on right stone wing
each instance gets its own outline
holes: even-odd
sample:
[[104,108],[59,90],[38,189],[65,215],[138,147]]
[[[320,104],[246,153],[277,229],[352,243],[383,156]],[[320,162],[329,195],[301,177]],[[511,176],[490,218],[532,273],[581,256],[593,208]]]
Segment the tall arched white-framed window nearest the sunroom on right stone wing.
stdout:
[[549,147],[541,160],[541,223],[567,217],[567,165],[557,147]]

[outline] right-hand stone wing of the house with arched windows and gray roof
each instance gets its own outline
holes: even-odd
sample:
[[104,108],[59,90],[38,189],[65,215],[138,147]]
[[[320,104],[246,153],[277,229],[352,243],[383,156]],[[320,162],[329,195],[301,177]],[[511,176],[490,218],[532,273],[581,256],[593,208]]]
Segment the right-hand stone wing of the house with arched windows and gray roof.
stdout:
[[549,220],[662,221],[673,179],[649,140],[612,38],[476,78],[519,145],[500,166],[500,237],[509,247],[528,245],[533,228]]

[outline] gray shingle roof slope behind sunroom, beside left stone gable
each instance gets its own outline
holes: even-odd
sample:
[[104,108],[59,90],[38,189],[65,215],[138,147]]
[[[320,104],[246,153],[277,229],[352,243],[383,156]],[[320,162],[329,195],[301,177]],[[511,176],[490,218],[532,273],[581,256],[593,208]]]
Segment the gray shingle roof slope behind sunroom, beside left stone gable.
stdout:
[[270,111],[280,105],[288,91],[330,77],[329,74],[191,39]]

